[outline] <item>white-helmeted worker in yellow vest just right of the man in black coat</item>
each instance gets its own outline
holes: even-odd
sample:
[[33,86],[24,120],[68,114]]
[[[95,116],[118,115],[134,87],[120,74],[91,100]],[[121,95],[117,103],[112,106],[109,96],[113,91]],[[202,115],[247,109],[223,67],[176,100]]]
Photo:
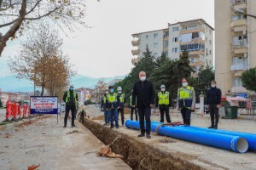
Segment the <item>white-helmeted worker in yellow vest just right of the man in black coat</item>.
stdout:
[[157,94],[155,107],[159,107],[160,122],[164,122],[164,116],[166,113],[166,122],[170,123],[171,118],[169,115],[169,107],[172,107],[172,98],[169,92],[166,91],[166,86],[160,86],[161,91]]

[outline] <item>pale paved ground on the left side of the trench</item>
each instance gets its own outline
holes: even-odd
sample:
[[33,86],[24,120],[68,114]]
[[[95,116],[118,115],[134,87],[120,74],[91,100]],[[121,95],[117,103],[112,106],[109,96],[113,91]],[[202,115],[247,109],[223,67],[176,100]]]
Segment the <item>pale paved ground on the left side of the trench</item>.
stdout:
[[0,169],[131,169],[121,159],[96,156],[103,145],[90,131],[63,126],[63,115],[39,116],[8,124],[0,131]]

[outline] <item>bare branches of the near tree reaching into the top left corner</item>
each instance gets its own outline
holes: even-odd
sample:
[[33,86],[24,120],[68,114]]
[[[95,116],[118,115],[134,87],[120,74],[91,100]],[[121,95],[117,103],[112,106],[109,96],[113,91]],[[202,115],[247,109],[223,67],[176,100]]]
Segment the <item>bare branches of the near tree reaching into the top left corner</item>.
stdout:
[[[76,25],[86,26],[84,0],[0,0],[0,56],[10,38],[21,36],[23,31],[38,24],[60,26],[73,31]],[[19,34],[19,35],[18,35]]]

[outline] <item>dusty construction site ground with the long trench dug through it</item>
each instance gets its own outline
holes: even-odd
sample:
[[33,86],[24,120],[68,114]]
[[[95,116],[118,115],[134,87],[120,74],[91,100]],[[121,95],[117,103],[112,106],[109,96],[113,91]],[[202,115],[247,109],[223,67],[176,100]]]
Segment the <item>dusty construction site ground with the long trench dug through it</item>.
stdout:
[[[98,105],[85,107],[83,124],[63,128],[63,115],[32,116],[1,126],[0,169],[255,169],[255,151],[237,153],[151,132],[137,138],[139,130],[105,126]],[[3,119],[3,115],[1,115]],[[173,109],[172,122],[182,116]],[[125,114],[129,122],[130,114]],[[152,114],[151,121],[160,116]],[[120,120],[119,120],[120,121]],[[191,126],[207,127],[208,114],[193,113]],[[126,123],[125,123],[126,124]],[[254,116],[220,119],[219,130],[254,133]],[[218,131],[218,130],[216,130]],[[38,166],[38,167],[37,167]]]

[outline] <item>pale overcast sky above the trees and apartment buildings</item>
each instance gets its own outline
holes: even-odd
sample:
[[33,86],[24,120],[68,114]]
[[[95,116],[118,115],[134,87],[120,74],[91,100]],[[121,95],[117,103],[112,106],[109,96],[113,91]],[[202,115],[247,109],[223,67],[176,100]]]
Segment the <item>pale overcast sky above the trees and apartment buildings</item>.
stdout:
[[[214,28],[214,0],[87,0],[86,4],[84,21],[90,28],[81,26],[69,37],[61,36],[64,54],[84,76],[128,74],[134,58],[131,34],[196,19]],[[10,74],[7,60],[19,53],[19,44],[19,40],[8,42],[0,58],[0,77]]]

